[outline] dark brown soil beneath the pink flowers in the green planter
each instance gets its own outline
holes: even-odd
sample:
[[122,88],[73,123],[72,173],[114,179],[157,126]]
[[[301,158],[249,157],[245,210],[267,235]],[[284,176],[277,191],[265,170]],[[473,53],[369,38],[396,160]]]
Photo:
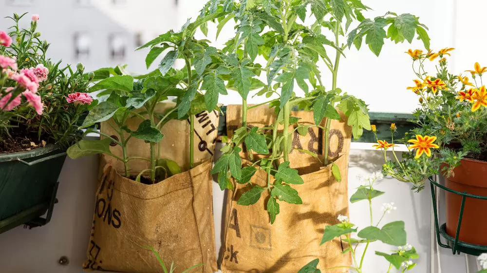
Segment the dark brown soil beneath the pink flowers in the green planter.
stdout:
[[9,130],[10,136],[0,139],[0,154],[30,151],[47,144],[47,137],[39,137],[37,132],[29,132],[25,128],[17,127]]

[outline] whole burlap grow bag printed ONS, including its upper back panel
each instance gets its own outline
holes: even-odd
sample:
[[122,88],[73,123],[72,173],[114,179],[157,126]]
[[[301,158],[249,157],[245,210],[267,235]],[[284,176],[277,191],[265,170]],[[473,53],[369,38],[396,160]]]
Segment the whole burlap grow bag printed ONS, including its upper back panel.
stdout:
[[[169,107],[174,104],[160,103],[157,109],[164,113]],[[100,169],[103,173],[96,194],[84,270],[163,272],[155,255],[141,248],[150,246],[159,252],[168,269],[174,261],[176,273],[200,263],[204,266],[191,272],[217,271],[210,170],[218,118],[216,111],[196,115],[196,167],[191,170],[188,170],[188,120],[171,120],[162,128],[160,158],[174,160],[188,171],[154,185],[118,175],[124,173],[123,164],[110,156],[102,156]],[[101,132],[116,135],[107,122],[112,121],[103,122]],[[140,118],[132,117],[127,126],[134,131],[140,122]],[[122,155],[119,146],[110,147],[110,150],[114,155]],[[134,137],[127,150],[128,156],[150,157],[149,144]],[[149,168],[149,161],[130,161],[130,168],[130,175],[137,175]]]

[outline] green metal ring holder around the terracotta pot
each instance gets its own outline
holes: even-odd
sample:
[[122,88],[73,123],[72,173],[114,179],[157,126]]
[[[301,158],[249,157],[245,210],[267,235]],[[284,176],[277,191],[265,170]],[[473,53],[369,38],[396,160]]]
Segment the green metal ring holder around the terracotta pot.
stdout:
[[[475,255],[478,256],[482,253],[487,252],[487,246],[482,246],[482,245],[475,245],[475,244],[470,244],[467,242],[462,242],[458,240],[458,235],[460,234],[460,228],[462,226],[462,217],[463,217],[463,212],[465,208],[465,201],[467,198],[477,198],[477,199],[482,199],[482,200],[487,200],[487,196],[479,196],[479,195],[471,195],[468,194],[467,192],[457,192],[454,191],[450,188],[447,188],[440,183],[437,183],[434,181],[432,177],[429,178],[430,180],[430,186],[431,186],[431,199],[432,199],[432,206],[433,206],[433,214],[434,214],[434,224],[436,228],[436,241],[438,242],[438,245],[442,248],[447,248],[451,249],[451,252],[453,254],[470,254],[470,255]],[[447,224],[442,224],[441,226],[438,224],[438,208],[436,207],[436,188],[442,189],[444,191],[450,192],[455,195],[461,195],[462,196],[462,204],[460,207],[460,215],[458,216],[458,225],[457,225],[457,230],[456,230],[456,235],[455,238],[451,237],[449,234],[447,234],[446,231],[446,226]],[[445,240],[447,240],[447,244],[444,244],[441,242],[441,237],[443,237]]]

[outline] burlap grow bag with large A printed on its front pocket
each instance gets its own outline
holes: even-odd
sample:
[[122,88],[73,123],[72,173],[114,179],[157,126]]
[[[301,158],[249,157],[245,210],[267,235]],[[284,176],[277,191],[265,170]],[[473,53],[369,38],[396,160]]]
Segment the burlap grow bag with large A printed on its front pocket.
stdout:
[[[291,115],[300,117],[300,124],[314,124],[313,113],[301,111],[292,112]],[[228,106],[229,134],[239,126],[240,116],[240,106]],[[274,119],[273,111],[264,105],[251,109],[247,122],[263,127],[272,124]],[[289,158],[291,167],[299,170],[304,184],[291,186],[298,191],[303,204],[280,201],[280,214],[274,224],[270,224],[269,215],[265,211],[268,192],[263,192],[254,205],[238,205],[238,199],[248,188],[234,183],[235,190],[229,193],[225,209],[225,236],[220,253],[224,273],[296,273],[316,258],[320,259],[319,266],[322,269],[351,264],[351,256],[341,254],[346,245],[342,245],[339,239],[319,245],[325,227],[338,223],[338,215],[348,215],[347,174],[351,128],[338,120],[332,122],[331,128],[328,157],[339,167],[342,181],[335,180],[331,165],[322,167],[316,158],[297,150],[322,154],[323,132],[315,127],[309,128],[306,137],[294,135],[294,150]],[[266,173],[258,170],[251,182],[266,186],[266,179]],[[345,273],[348,270],[327,272]]]

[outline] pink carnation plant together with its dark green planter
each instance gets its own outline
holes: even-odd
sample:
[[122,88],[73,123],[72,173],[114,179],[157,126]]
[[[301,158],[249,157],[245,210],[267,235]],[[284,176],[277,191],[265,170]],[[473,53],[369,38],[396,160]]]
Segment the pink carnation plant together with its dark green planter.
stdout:
[[46,58],[49,44],[39,39],[38,15],[21,29],[24,16],[9,17],[12,31],[0,31],[0,231],[45,213],[64,151],[93,100],[83,93],[90,81],[83,66],[61,68]]

